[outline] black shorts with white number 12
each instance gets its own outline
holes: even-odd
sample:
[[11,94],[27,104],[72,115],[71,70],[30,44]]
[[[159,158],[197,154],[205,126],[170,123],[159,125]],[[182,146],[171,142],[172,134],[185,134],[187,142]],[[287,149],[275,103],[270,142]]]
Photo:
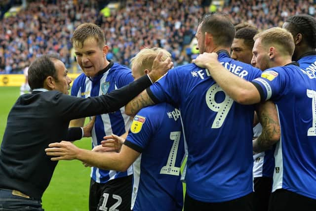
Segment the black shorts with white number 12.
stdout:
[[133,175],[107,183],[90,182],[89,211],[130,211]]

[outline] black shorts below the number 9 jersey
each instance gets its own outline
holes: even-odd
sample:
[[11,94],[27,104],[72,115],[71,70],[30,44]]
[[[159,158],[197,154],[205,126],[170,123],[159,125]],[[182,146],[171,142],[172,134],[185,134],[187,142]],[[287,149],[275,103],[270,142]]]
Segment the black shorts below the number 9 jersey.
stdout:
[[252,211],[253,193],[246,196],[217,203],[200,202],[186,194],[184,211]]

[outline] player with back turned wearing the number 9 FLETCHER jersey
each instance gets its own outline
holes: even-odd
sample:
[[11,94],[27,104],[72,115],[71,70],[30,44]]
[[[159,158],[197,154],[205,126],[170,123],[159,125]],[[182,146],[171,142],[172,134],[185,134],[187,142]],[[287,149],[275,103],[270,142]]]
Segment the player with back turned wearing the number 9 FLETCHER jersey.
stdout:
[[[259,69],[230,58],[234,36],[235,28],[227,15],[206,14],[197,28],[198,49],[201,53],[217,52],[229,71],[253,80],[260,76]],[[142,107],[160,102],[179,106],[183,120],[188,146],[184,210],[252,210],[254,106],[234,102],[207,70],[195,64],[170,70],[157,85],[128,103],[126,113],[134,115]],[[274,112],[274,105],[270,105],[259,109],[260,117]]]

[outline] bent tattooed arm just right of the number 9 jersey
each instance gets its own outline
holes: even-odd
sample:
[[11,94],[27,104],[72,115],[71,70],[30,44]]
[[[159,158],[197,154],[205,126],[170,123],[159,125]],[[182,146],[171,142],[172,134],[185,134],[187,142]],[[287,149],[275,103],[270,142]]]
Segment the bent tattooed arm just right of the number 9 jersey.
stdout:
[[262,126],[262,132],[252,142],[253,151],[256,153],[270,149],[281,137],[276,105],[272,101],[258,104],[257,115]]

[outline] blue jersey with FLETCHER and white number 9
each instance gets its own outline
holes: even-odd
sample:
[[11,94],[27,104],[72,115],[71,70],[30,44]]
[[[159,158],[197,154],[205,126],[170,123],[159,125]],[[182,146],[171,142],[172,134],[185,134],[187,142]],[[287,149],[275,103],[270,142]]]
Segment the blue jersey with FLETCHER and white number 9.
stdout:
[[[227,53],[219,53],[219,61],[248,81],[261,74]],[[223,202],[251,193],[254,106],[234,102],[207,70],[195,64],[170,70],[151,91],[158,100],[180,108],[188,145],[185,178],[190,197]]]

